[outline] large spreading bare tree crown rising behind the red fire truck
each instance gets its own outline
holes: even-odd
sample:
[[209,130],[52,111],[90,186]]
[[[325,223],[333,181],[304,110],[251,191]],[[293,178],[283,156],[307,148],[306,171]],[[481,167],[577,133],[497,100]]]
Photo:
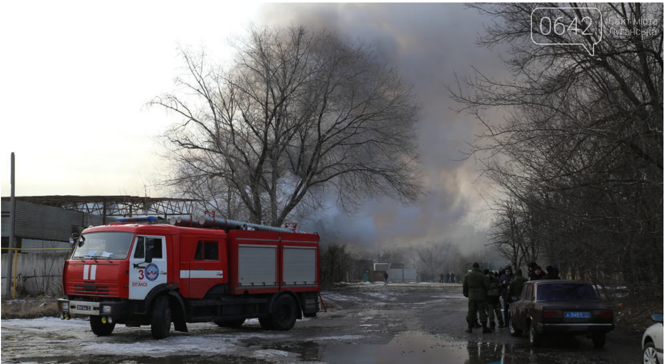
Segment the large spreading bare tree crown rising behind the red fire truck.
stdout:
[[151,104],[180,116],[164,136],[167,183],[230,216],[281,225],[327,191],[354,209],[414,201],[417,106],[371,50],[303,27],[250,29],[227,68],[183,52],[180,94]]

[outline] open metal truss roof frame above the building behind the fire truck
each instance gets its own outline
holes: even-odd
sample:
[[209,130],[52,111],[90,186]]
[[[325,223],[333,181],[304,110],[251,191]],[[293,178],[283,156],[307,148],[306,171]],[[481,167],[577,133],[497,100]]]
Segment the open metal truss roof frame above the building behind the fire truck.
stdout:
[[[8,200],[7,197],[2,198]],[[21,196],[17,201],[26,201],[39,205],[60,207],[61,209],[82,211],[106,218],[132,217],[136,215],[157,215],[168,219],[172,215],[192,215],[199,200],[176,199],[170,197],[139,197],[129,195],[118,196]]]

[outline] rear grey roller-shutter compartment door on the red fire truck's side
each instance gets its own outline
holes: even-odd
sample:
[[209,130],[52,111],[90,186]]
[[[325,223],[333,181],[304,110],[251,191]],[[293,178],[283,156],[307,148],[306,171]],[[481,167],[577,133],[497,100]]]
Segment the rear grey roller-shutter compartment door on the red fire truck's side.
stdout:
[[283,260],[285,286],[317,284],[317,248],[285,246]]

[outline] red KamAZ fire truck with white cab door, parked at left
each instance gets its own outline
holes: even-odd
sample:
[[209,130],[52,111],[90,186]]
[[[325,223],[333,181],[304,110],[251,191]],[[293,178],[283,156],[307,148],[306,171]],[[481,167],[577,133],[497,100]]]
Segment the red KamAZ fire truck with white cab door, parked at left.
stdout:
[[90,317],[96,335],[116,323],[289,330],[319,311],[319,235],[214,217],[128,218],[83,230],[65,262],[62,319]]

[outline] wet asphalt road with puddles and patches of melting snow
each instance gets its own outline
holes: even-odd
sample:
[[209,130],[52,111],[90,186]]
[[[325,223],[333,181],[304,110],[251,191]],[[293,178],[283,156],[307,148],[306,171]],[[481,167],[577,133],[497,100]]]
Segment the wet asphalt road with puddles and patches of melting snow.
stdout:
[[153,340],[149,327],[117,326],[95,337],[83,320],[2,321],[5,363],[636,363],[640,336],[608,334],[604,349],[585,337],[531,348],[507,329],[468,334],[459,285],[349,286],[323,292],[329,306],[291,331],[213,323]]

